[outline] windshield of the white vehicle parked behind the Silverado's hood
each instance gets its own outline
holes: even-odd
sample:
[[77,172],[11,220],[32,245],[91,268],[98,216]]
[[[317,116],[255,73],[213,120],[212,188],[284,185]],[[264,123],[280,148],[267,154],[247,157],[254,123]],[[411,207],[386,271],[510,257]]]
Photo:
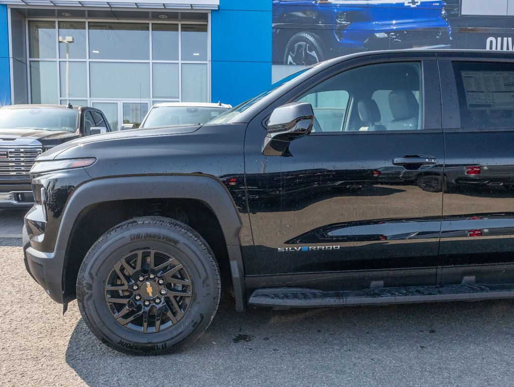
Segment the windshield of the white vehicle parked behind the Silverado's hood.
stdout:
[[228,109],[222,106],[155,106],[150,110],[141,127],[205,124]]

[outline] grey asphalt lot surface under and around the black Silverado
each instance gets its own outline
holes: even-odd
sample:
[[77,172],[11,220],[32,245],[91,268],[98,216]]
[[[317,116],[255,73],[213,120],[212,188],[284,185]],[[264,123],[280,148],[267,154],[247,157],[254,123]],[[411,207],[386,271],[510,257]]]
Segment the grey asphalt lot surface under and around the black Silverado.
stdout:
[[514,302],[234,311],[224,296],[185,352],[123,355],[101,344],[77,303],[50,300],[0,238],[2,386],[514,385]]

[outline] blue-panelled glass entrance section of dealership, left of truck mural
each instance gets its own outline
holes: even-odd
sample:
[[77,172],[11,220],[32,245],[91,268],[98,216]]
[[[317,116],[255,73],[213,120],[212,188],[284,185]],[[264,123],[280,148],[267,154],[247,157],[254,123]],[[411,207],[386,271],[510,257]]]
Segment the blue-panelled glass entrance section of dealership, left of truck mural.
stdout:
[[0,105],[237,103],[271,83],[271,2],[2,0]]

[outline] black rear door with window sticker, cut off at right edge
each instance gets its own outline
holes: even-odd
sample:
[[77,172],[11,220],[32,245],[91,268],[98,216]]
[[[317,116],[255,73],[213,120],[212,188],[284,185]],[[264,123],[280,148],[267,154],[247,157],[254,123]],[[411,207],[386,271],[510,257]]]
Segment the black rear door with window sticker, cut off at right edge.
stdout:
[[[440,265],[514,262],[514,71],[508,63],[442,62],[452,78],[446,124]],[[455,127],[456,126],[456,127]],[[461,282],[462,272],[442,282]]]

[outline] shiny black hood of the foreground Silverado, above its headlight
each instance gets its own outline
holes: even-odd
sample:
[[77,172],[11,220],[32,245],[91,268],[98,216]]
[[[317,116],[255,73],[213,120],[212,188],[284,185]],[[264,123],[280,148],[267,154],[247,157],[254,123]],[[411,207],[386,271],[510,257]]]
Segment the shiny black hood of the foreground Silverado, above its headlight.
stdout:
[[[167,136],[174,134],[192,133],[198,130],[201,125],[187,125],[187,126],[169,126],[149,129],[132,129],[128,131],[111,132],[107,134],[99,134],[94,136],[81,137],[76,140],[65,142],[61,145],[55,146],[51,150],[41,155],[38,160],[51,160],[54,158],[63,158],[67,156],[60,156],[62,153],[67,154],[69,150],[80,146],[82,149],[87,149],[88,145],[93,143],[102,143],[101,148],[108,149],[109,143],[119,142],[123,140],[137,140],[139,138],[154,137],[154,136]],[[96,148],[96,147],[95,147]]]

